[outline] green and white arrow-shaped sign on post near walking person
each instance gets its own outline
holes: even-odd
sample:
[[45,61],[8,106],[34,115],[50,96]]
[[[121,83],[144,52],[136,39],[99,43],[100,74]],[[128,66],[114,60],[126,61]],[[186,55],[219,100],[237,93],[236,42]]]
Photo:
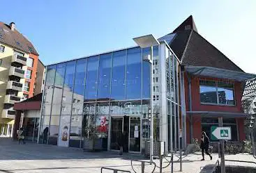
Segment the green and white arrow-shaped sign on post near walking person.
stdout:
[[231,140],[231,128],[211,126],[211,140]]

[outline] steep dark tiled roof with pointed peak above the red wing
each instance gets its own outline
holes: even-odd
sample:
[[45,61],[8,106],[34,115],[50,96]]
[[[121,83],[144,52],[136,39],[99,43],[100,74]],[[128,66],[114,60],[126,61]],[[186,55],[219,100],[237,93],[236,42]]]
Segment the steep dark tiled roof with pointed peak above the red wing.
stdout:
[[[243,70],[236,64],[229,60],[222,52],[214,47],[210,42],[199,35],[193,22],[193,17],[188,17],[190,22],[183,22],[178,28],[174,30],[175,38],[170,43],[170,47],[181,60],[183,65],[216,67],[220,69],[229,69],[236,72],[243,72]],[[188,20],[186,19],[186,20]],[[191,24],[190,29],[185,28],[184,25]],[[181,29],[183,28],[183,30]]]

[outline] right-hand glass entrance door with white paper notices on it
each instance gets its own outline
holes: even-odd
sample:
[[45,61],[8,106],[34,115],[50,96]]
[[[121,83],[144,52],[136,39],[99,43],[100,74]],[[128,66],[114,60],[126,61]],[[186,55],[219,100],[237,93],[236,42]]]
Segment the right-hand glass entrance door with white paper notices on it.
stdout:
[[129,151],[140,152],[140,117],[130,117]]

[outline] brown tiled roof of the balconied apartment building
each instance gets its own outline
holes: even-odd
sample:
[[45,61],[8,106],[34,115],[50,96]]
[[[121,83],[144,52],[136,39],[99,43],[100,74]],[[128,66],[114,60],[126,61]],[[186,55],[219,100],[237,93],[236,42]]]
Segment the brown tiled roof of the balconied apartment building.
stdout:
[[33,44],[31,44],[31,42],[29,42],[29,40],[27,40],[22,33],[16,29],[12,31],[10,26],[8,24],[4,24],[3,22],[0,22],[0,42],[3,44],[8,44],[9,46],[26,53],[38,55],[38,52],[33,47]]

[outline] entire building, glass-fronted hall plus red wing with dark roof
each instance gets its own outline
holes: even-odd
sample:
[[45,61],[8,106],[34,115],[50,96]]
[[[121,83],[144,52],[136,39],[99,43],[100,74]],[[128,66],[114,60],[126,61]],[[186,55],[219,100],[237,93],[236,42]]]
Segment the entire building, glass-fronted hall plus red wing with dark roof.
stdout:
[[38,142],[110,151],[123,143],[147,154],[152,136],[176,151],[219,121],[233,142],[246,140],[255,74],[199,35],[192,16],[158,41],[141,38],[139,47],[47,66]]

